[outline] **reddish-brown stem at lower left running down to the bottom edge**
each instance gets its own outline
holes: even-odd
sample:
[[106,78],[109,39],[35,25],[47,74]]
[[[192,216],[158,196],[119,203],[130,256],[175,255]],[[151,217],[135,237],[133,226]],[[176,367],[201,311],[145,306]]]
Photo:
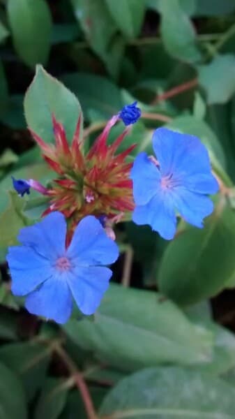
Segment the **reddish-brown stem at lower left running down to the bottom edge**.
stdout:
[[68,372],[70,372],[71,377],[73,377],[74,383],[82,396],[87,418],[98,419],[98,416],[96,415],[96,411],[93,406],[91,395],[89,393],[89,389],[86,385],[86,381],[84,380],[82,374],[78,371],[75,362],[73,362],[68,353],[66,353],[66,351],[60,345],[54,346],[54,350],[59,355],[61,360],[63,360],[63,362],[65,363],[66,367],[68,368]]

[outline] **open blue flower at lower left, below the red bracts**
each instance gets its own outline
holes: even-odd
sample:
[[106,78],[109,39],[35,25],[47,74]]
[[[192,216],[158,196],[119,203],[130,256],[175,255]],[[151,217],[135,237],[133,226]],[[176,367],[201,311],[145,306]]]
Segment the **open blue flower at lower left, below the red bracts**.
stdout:
[[119,256],[95,216],[79,222],[66,249],[66,219],[52,212],[33,226],[22,228],[7,260],[14,295],[27,295],[26,309],[66,323],[72,295],[84,314],[93,314],[109,286],[112,271],[105,267]]

